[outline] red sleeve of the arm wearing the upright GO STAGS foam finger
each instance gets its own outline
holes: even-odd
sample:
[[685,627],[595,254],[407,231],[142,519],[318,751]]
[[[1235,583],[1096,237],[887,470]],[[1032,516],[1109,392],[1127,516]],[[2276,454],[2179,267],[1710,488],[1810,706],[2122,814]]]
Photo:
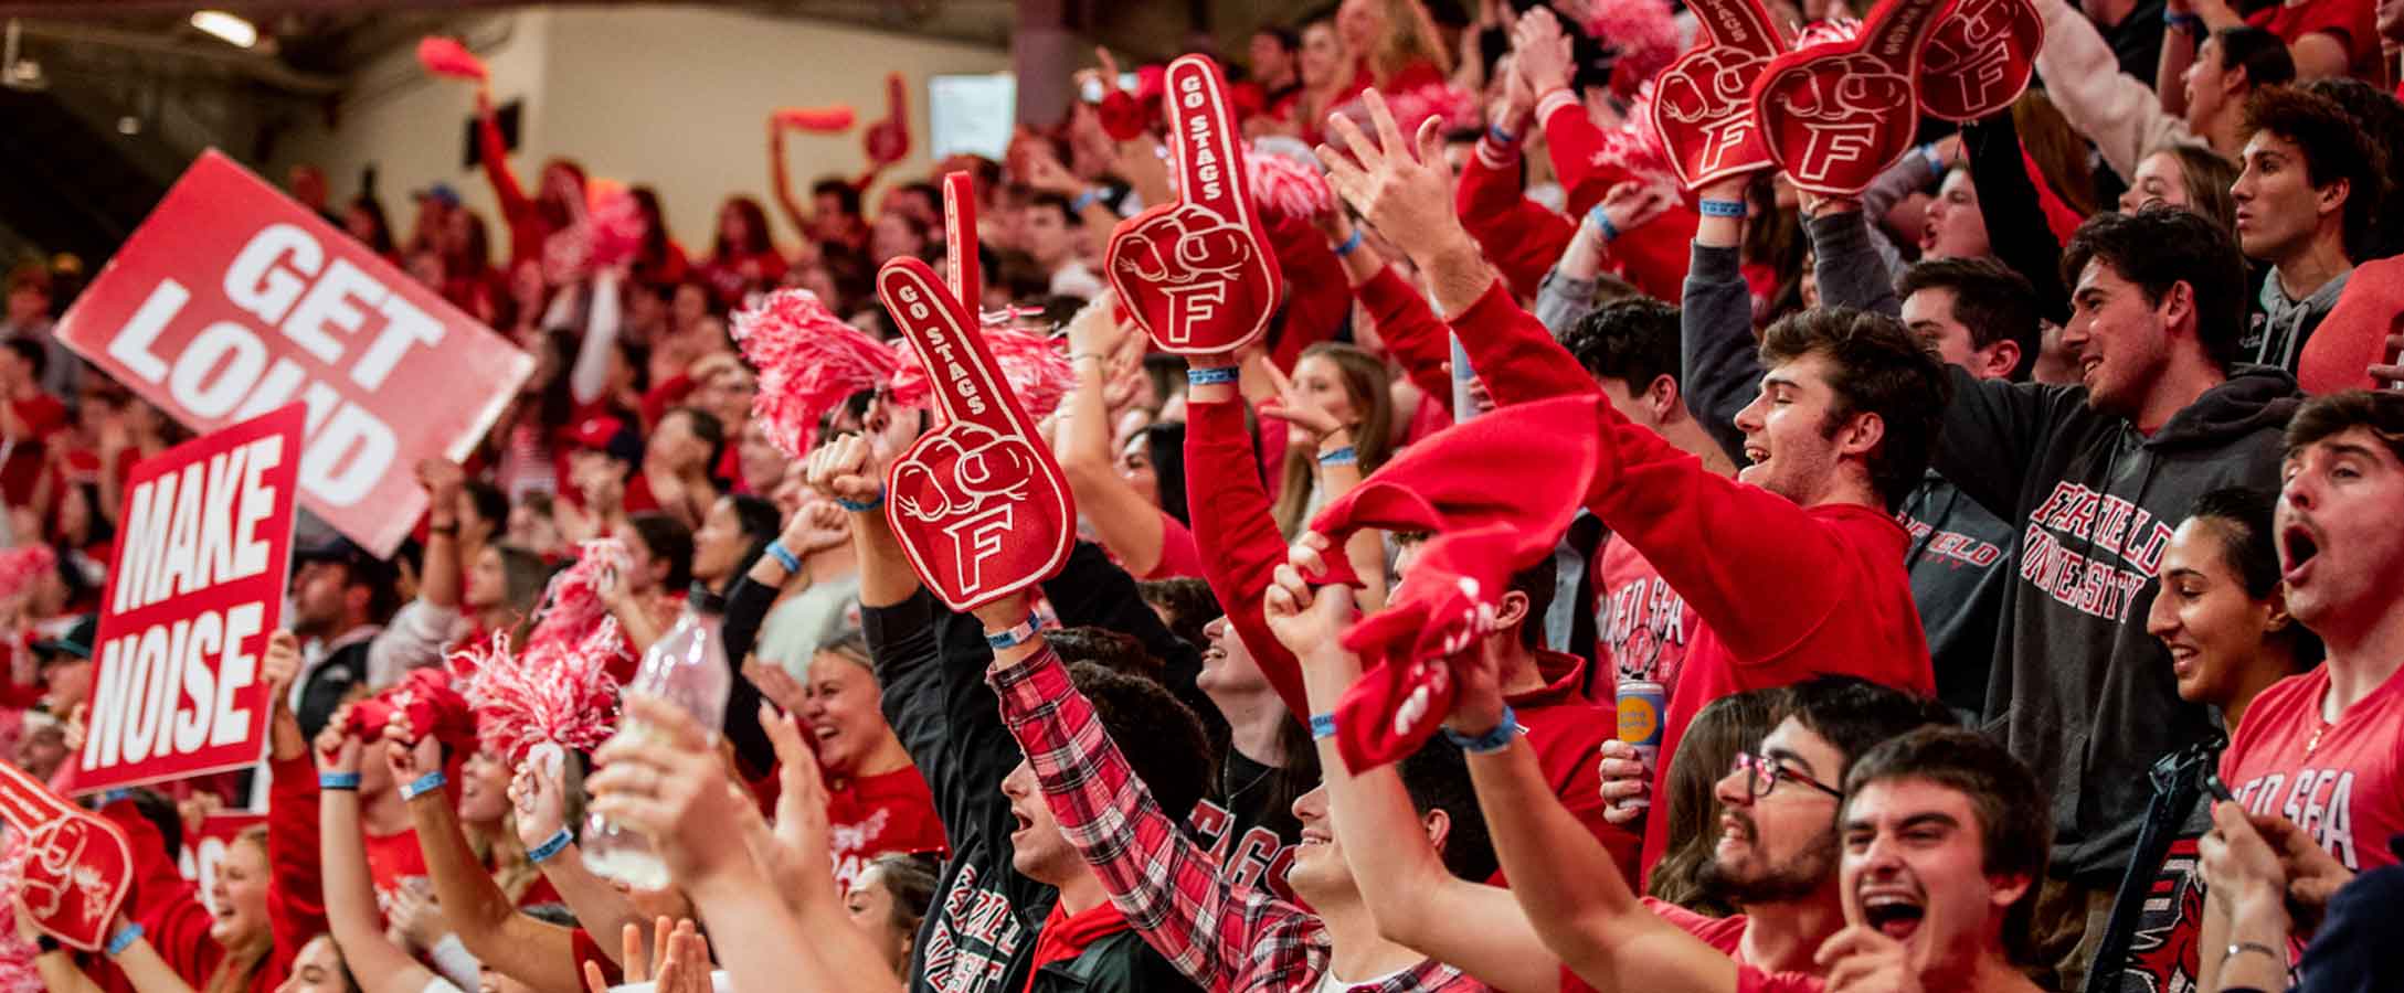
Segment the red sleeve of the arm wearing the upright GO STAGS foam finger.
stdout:
[[1260,486],[1252,466],[1243,402],[1185,404],[1185,512],[1202,548],[1202,579],[1286,709],[1310,714],[1303,664],[1260,613],[1269,575],[1286,560],[1286,539],[1269,517],[1269,488]]

